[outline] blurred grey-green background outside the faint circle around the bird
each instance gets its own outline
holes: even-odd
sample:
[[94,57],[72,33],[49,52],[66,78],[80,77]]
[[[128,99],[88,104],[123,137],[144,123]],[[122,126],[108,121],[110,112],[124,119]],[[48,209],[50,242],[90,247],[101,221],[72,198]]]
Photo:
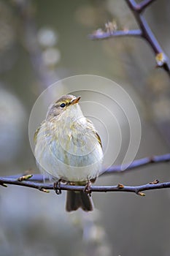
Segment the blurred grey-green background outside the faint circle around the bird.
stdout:
[[[144,13],[168,56],[169,8],[159,0]],[[38,173],[28,140],[31,109],[42,91],[71,75],[103,76],[128,92],[142,122],[136,159],[169,152],[169,76],[155,69],[142,39],[88,39],[112,20],[117,29],[137,28],[123,0],[0,1],[0,176]],[[169,163],[101,176],[96,184],[134,186],[155,178],[169,181]],[[0,187],[0,255],[170,255],[169,189],[146,197],[93,193],[90,214],[66,214],[64,196]]]

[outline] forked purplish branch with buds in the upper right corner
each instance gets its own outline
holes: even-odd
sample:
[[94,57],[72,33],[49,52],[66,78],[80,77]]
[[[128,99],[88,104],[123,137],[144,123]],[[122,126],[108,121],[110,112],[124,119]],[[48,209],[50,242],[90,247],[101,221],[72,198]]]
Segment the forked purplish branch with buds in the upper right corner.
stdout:
[[[144,0],[140,4],[136,4],[134,0],[125,0],[128,4],[128,7],[134,14],[136,18],[136,22],[139,25],[139,29],[129,30],[129,31],[116,31],[112,30],[112,23],[109,23],[111,26],[111,31],[102,31],[98,29],[97,31],[90,34],[90,39],[108,39],[111,37],[123,37],[123,36],[133,36],[133,37],[142,37],[145,39],[152,48],[155,53],[155,61],[157,63],[157,67],[162,67],[166,70],[166,72],[170,75],[170,60],[169,57],[166,56],[166,53],[163,52],[161,45],[158,40],[155,38],[155,35],[152,33],[150,26],[142,15],[142,12],[155,0]],[[108,26],[108,24],[107,24]]]

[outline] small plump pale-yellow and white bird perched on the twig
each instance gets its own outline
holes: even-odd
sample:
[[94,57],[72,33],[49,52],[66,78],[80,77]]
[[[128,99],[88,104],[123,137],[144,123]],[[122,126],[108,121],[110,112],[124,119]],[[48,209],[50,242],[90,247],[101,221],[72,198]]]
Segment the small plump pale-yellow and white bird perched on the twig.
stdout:
[[[55,181],[85,185],[101,173],[103,150],[93,123],[85,118],[80,97],[64,95],[50,105],[34,140],[39,170]],[[93,210],[87,192],[67,191],[66,211]]]

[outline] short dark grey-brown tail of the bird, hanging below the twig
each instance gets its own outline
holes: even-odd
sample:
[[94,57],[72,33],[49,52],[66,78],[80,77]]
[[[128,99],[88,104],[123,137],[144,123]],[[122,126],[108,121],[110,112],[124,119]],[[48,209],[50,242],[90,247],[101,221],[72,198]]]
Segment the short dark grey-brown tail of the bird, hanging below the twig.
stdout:
[[93,211],[91,197],[83,191],[67,191],[66,211],[76,211],[78,208],[82,208],[83,211]]

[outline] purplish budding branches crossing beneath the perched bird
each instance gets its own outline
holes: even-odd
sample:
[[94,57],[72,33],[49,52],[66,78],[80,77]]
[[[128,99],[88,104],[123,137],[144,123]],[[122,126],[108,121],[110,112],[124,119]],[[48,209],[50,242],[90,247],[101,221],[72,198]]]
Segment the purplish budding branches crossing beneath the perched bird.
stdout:
[[[161,162],[169,162],[170,161],[170,154],[164,154],[160,156],[154,156],[154,157],[145,157],[142,159],[134,160],[134,162],[129,165],[129,167],[126,170],[132,170],[137,167],[143,167],[150,164],[158,164]],[[109,173],[122,173],[126,170],[122,170],[120,165],[110,167],[105,171],[104,174]],[[6,184],[12,184],[12,185],[18,185],[23,187],[31,187],[34,189],[39,189],[42,192],[49,192],[48,190],[53,189],[53,184],[47,184],[42,183],[43,177],[42,175],[35,174],[32,175],[26,175],[26,176],[9,176],[9,177],[0,177],[0,185],[3,187],[7,187]],[[162,189],[162,188],[169,188],[170,182],[165,183],[158,183],[158,180],[155,180],[151,182],[150,184],[145,184],[142,186],[123,186],[121,184],[118,184],[117,186],[93,186],[91,187],[91,192],[135,192],[138,195],[144,195],[142,191],[144,190],[151,190],[151,189]],[[81,191],[84,190],[84,186],[73,186],[73,185],[65,185],[61,184],[60,186],[61,190],[74,190],[74,191]]]

